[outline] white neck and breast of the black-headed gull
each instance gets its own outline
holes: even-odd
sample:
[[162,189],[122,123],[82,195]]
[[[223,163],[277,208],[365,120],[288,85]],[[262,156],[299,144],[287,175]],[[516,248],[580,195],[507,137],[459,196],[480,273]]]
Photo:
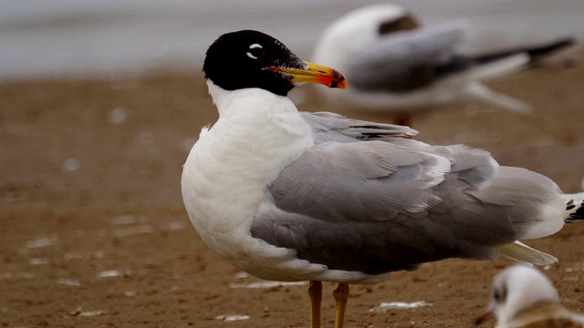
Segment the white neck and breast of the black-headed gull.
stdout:
[[[269,278],[255,262],[291,259],[293,251],[251,237],[266,188],[313,145],[308,124],[287,97],[262,89],[225,91],[209,83],[220,118],[193,146],[183,169],[183,200],[195,229],[236,267]],[[260,260],[260,258],[264,258]]]

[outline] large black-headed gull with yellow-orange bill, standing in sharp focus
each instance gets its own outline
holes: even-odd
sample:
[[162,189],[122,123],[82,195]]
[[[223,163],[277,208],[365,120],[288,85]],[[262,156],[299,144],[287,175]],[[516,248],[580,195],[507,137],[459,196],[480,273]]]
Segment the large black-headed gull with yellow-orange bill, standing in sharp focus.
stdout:
[[184,163],[185,209],[203,241],[236,268],[308,281],[313,328],[322,282],[339,283],[339,328],[349,283],[383,282],[453,257],[551,263],[557,259],[517,240],[584,216],[584,193],[499,166],[485,150],[401,138],[416,134],[408,127],[298,112],[287,97],[293,87],[347,82],[272,36],[220,36],[203,72],[219,118]]

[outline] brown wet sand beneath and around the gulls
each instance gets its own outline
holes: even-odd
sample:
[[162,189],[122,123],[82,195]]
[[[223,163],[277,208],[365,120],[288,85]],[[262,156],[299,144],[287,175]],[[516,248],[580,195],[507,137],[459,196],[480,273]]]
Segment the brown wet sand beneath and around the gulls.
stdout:
[[[535,113],[439,108],[413,118],[418,138],[489,149],[502,165],[580,191],[584,67],[540,67],[489,86],[534,104]],[[183,209],[183,161],[217,117],[203,77],[5,82],[0,99],[0,326],[308,326],[306,286],[232,288],[259,280],[210,251]],[[318,101],[303,108],[324,109]],[[580,313],[583,238],[580,223],[527,241],[558,257],[546,273]],[[472,326],[492,277],[508,264],[440,261],[354,286],[347,327]],[[333,288],[325,283],[323,326],[334,320]],[[370,312],[398,301],[433,305]],[[232,314],[250,318],[216,319]]]

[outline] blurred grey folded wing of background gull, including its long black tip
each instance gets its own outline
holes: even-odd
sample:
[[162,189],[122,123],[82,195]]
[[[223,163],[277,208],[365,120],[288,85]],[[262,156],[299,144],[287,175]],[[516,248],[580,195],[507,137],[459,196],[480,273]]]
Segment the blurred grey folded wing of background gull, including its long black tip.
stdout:
[[463,73],[490,77],[485,67],[496,67],[513,56],[526,56],[523,65],[527,67],[542,56],[574,44],[573,39],[566,37],[542,46],[472,56],[460,53],[459,44],[463,40],[464,28],[458,23],[399,31],[355,51],[346,73],[351,77],[351,87],[368,92],[406,93]]

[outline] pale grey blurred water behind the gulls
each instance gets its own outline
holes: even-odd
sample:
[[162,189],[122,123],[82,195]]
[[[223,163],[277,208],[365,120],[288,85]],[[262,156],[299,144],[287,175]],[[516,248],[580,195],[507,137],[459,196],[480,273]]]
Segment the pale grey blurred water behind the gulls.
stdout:
[[[471,20],[469,38],[477,49],[584,38],[579,0],[397,2],[426,24]],[[0,0],[0,77],[199,70],[214,38],[245,28],[276,36],[308,57],[332,20],[372,3],[379,1]]]

